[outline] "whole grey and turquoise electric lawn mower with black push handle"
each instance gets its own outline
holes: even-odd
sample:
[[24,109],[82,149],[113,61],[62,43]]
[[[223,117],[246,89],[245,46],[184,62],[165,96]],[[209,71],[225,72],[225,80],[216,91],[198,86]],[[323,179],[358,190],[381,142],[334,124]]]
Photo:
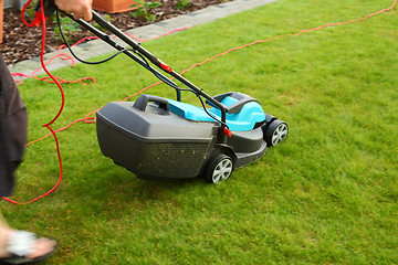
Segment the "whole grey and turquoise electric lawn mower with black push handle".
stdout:
[[[287,136],[286,123],[264,113],[255,98],[239,92],[208,95],[97,12],[92,13],[96,23],[127,47],[84,20],[65,14],[150,71],[177,94],[176,99],[140,95],[136,102],[111,102],[97,112],[101,151],[116,165],[139,179],[205,177],[210,183],[220,183]],[[180,88],[165,74],[187,88]],[[181,92],[193,93],[201,107],[184,103]]]

